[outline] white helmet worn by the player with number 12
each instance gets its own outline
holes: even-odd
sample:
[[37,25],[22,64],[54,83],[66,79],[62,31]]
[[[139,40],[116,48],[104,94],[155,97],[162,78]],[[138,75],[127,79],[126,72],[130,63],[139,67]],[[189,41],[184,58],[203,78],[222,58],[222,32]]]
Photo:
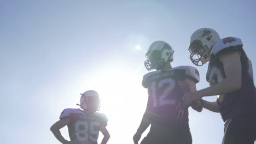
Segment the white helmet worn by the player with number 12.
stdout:
[[155,41],[146,53],[147,60],[144,62],[146,69],[161,70],[167,61],[173,61],[173,52],[172,47],[165,41]]

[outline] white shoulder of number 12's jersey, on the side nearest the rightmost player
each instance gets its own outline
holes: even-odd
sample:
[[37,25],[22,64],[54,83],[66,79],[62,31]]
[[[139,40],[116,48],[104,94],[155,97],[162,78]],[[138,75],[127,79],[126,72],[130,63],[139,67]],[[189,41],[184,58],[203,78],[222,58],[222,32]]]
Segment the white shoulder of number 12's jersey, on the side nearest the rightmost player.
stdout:
[[193,80],[195,80],[195,83],[200,81],[200,75],[199,75],[199,71],[191,66],[188,65],[184,65],[184,66],[179,66],[179,67],[175,67],[174,69],[182,69],[185,70],[185,75],[191,77]]

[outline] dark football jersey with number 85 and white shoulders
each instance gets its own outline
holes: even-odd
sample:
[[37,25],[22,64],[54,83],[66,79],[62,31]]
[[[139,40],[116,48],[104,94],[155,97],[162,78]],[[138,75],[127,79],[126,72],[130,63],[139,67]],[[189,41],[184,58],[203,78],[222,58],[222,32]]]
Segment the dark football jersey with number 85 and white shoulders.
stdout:
[[108,119],[103,113],[84,113],[80,109],[65,109],[60,119],[69,117],[68,134],[71,141],[97,143],[100,126],[106,127]]

